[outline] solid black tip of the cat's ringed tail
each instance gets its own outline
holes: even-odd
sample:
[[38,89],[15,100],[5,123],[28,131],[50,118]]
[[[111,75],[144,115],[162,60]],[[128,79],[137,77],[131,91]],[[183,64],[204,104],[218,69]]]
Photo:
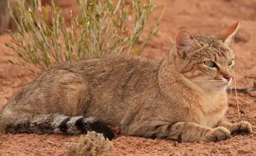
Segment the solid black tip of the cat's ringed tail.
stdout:
[[108,124],[106,124],[105,122],[97,120],[92,124],[92,131],[102,133],[104,137],[108,138],[110,141],[113,140],[113,138],[115,137],[113,130],[108,127]]

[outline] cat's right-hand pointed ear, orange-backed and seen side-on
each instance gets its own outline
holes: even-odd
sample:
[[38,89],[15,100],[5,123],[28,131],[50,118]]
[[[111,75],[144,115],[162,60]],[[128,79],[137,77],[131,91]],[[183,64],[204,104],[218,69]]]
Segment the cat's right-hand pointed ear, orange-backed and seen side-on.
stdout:
[[223,29],[222,31],[216,33],[219,39],[223,41],[223,43],[227,46],[232,46],[234,37],[239,29],[239,22],[231,25],[229,28]]

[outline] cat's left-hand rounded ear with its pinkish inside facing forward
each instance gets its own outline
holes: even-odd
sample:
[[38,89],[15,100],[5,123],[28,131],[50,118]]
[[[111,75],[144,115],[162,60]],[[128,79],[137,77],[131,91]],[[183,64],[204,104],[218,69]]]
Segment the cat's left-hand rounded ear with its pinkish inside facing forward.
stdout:
[[186,52],[194,51],[201,47],[188,29],[181,29],[175,37],[177,53],[183,58]]

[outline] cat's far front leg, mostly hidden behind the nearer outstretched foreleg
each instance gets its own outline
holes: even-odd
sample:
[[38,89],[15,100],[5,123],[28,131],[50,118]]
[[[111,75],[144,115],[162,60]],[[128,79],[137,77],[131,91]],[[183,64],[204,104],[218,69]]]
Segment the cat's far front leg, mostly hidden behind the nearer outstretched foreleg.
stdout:
[[251,133],[252,126],[246,121],[240,121],[239,123],[230,123],[226,119],[222,119],[218,122],[217,126],[226,127],[230,134],[241,134],[241,133]]

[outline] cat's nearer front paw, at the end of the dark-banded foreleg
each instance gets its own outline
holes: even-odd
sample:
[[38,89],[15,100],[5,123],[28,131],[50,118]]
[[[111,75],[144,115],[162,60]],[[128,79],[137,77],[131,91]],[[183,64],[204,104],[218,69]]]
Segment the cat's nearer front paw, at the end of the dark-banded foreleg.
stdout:
[[230,137],[230,131],[225,127],[216,127],[206,136],[207,142],[211,141],[222,141]]

